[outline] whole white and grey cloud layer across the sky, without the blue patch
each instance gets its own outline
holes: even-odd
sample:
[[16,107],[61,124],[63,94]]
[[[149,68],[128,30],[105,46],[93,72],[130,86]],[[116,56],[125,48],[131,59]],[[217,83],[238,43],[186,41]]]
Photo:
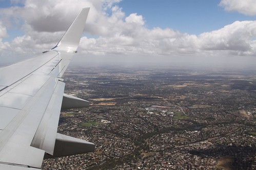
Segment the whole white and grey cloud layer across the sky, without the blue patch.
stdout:
[[[3,21],[0,22],[0,53],[12,51],[15,55],[27,55],[49,50],[83,7],[90,7],[85,29],[90,37],[83,36],[78,49],[83,55],[247,56],[256,52],[256,21],[235,21],[222,29],[200,35],[171,28],[148,29],[145,18],[137,13],[125,14],[118,6],[120,1],[17,1],[23,5],[0,9]],[[246,1],[251,5],[244,2],[222,0],[220,5],[229,11],[246,11],[245,14],[255,15],[254,1]],[[20,27],[25,34],[3,42],[2,38],[8,36],[11,27]]]

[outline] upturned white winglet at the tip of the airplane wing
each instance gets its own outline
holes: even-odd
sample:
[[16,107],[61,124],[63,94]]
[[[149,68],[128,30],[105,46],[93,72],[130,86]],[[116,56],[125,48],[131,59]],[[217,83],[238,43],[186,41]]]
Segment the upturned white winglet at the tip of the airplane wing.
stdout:
[[58,42],[58,44],[54,46],[51,50],[66,51],[69,53],[77,52],[77,46],[83,34],[89,9],[90,8],[82,9],[82,11],[76,16],[75,20],[72,22],[71,26],[64,34],[60,42]]

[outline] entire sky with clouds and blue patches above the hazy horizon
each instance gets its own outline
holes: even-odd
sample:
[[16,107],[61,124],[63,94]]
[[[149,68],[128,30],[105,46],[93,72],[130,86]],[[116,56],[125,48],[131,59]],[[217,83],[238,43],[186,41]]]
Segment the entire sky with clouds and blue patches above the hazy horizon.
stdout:
[[0,58],[51,49],[90,7],[76,63],[254,67],[255,0],[0,0]]

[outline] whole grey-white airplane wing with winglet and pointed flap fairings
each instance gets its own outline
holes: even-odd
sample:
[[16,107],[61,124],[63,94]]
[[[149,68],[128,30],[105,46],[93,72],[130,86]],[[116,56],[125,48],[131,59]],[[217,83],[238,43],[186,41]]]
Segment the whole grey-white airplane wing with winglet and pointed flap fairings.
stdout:
[[44,158],[93,152],[95,145],[57,133],[61,108],[89,106],[64,94],[61,78],[82,36],[89,8],[50,51],[0,68],[0,169],[41,169]]

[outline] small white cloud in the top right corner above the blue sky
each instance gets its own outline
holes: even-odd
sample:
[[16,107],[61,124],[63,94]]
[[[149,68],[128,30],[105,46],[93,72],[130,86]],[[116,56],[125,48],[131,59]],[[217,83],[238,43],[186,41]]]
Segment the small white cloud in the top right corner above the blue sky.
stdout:
[[238,11],[245,15],[256,15],[255,0],[222,0],[220,6],[226,11]]

